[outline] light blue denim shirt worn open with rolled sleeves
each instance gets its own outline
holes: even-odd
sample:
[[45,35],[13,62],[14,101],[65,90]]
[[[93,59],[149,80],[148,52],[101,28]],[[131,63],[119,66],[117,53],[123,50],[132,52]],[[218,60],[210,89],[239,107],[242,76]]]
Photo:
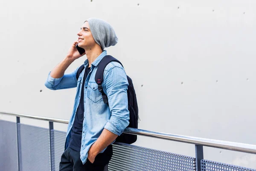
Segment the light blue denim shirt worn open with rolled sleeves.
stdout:
[[[113,134],[121,135],[129,125],[128,80],[122,65],[118,62],[111,62],[104,70],[102,87],[108,96],[109,105],[104,104],[102,94],[98,90],[98,84],[95,82],[97,66],[106,55],[107,51],[104,50],[91,64],[91,71],[87,78],[84,78],[84,69],[78,80],[76,79],[78,67],[73,73],[64,74],[61,78],[52,78],[50,72],[45,82],[45,86],[51,90],[77,87],[75,104],[67,128],[65,149],[68,146],[70,130],[72,129],[76,110],[79,105],[81,88],[84,88],[84,121],[80,150],[80,158],[83,164],[87,160],[90,147],[99,138],[104,128]],[[84,62],[85,68],[87,64],[88,59]],[[83,79],[86,79],[84,87],[81,86]]]

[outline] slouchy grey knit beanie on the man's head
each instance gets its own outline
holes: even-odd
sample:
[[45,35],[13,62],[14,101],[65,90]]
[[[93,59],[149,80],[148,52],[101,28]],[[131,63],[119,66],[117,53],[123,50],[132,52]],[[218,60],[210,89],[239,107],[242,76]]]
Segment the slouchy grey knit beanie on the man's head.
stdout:
[[118,37],[116,36],[113,27],[108,24],[108,22],[97,18],[89,18],[86,21],[89,23],[93,39],[102,47],[102,50],[116,45]]

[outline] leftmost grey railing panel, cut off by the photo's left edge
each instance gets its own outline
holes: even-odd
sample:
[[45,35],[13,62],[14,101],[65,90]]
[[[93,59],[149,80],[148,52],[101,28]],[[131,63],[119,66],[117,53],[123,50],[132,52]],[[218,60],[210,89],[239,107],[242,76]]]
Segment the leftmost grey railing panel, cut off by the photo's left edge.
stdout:
[[16,123],[0,120],[0,170],[17,171]]

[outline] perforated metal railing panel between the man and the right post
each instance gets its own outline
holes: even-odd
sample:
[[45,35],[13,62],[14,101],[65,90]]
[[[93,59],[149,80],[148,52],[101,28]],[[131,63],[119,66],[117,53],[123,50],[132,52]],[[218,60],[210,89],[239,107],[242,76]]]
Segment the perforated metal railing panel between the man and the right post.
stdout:
[[195,171],[195,158],[123,143],[113,144],[109,171]]

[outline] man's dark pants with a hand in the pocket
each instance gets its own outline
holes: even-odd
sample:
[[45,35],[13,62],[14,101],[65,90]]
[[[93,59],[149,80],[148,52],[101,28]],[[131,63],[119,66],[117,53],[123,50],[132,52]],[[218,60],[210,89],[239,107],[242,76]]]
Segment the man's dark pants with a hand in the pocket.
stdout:
[[67,148],[61,156],[60,162],[60,171],[104,171],[105,165],[109,163],[113,155],[113,146],[110,145],[108,148],[103,152],[99,153],[95,161],[90,163],[87,161],[82,163],[80,159],[80,151],[73,150],[71,148]]

